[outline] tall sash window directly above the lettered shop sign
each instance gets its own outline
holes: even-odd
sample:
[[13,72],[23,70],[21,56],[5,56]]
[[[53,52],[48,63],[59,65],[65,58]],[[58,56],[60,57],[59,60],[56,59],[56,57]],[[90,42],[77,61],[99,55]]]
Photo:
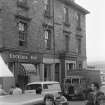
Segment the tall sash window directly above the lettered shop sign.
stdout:
[[19,31],[19,46],[26,46],[27,39],[27,23],[19,21],[18,31]]

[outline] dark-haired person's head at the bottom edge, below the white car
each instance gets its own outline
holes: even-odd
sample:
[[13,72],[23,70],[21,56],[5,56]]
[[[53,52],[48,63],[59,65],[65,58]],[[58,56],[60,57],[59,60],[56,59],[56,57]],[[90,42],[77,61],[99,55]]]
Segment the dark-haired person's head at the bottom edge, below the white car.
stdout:
[[55,105],[54,96],[52,94],[45,95],[44,105]]

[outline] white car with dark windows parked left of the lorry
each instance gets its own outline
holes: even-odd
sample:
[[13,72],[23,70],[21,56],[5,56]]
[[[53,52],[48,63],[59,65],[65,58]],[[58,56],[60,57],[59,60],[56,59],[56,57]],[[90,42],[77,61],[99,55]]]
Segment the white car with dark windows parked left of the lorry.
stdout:
[[36,94],[53,94],[58,95],[61,92],[61,87],[59,82],[55,81],[40,81],[32,82],[26,85],[25,93],[36,93]]

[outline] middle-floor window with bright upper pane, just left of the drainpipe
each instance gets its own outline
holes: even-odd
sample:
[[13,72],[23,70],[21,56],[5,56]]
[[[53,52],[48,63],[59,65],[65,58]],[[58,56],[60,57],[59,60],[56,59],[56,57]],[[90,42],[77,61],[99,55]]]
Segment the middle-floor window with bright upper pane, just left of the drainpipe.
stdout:
[[51,30],[46,30],[44,32],[44,37],[45,37],[45,48],[51,49]]

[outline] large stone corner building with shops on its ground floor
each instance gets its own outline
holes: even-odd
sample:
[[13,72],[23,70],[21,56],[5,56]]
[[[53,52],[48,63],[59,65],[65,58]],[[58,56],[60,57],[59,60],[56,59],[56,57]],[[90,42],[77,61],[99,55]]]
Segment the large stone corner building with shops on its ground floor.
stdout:
[[0,0],[0,52],[18,82],[62,81],[86,67],[86,14],[73,0]]

